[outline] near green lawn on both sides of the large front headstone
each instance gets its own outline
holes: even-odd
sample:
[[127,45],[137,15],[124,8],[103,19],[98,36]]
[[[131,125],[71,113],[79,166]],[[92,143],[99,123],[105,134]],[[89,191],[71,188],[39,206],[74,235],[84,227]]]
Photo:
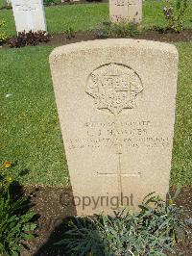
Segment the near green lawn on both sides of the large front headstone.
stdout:
[[[192,184],[192,42],[180,52],[172,184]],[[48,56],[52,47],[0,50],[0,159],[18,161],[24,185],[66,185],[68,173]]]

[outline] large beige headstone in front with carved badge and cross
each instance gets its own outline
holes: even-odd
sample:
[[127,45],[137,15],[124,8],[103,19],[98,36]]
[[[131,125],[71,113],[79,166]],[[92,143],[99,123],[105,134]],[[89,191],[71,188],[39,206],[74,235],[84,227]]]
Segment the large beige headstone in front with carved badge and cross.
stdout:
[[169,190],[178,52],[106,39],[56,48],[50,64],[78,215],[136,208]]

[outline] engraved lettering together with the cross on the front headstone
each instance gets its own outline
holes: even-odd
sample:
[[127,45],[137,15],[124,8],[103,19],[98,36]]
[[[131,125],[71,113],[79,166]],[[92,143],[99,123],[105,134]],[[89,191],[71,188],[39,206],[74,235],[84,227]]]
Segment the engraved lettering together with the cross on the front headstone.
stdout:
[[[114,121],[87,121],[82,124],[81,138],[68,138],[66,146],[69,150],[86,150],[105,152],[113,156],[116,165],[113,168],[95,169],[95,175],[106,178],[117,178],[117,191],[122,194],[124,179],[140,179],[142,170],[138,167],[129,169],[125,167],[123,159],[131,152],[138,154],[145,149],[150,154],[158,149],[166,150],[171,138],[155,130],[155,123],[149,119],[118,120]],[[146,152],[147,152],[146,151]]]

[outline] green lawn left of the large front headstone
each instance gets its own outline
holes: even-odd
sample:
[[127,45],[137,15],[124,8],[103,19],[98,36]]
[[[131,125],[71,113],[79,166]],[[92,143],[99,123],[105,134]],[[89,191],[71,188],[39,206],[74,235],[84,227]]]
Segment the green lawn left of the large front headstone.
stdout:
[[[29,170],[23,184],[67,184],[48,56],[50,47],[0,51],[0,159]],[[6,98],[6,94],[12,94]]]

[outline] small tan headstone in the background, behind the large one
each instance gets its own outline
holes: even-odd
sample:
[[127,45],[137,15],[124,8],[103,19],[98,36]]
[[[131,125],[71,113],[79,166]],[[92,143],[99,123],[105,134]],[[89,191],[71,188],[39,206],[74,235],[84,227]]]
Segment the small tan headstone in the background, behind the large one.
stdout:
[[142,19],[142,0],[109,0],[109,15],[112,22],[139,24]]

